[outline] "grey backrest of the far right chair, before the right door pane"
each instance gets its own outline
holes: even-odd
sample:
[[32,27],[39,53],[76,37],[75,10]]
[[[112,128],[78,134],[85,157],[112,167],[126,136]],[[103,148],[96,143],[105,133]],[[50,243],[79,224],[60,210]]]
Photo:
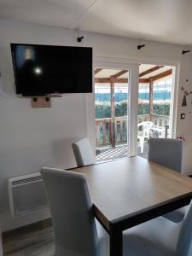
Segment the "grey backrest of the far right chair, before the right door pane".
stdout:
[[181,140],[150,138],[148,143],[148,160],[171,168],[176,172],[182,172],[183,142]]

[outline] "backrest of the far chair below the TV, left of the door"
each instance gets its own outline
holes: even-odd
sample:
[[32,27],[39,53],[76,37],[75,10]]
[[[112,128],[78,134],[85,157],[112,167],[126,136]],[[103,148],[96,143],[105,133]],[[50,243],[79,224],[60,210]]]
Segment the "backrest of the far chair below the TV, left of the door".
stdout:
[[96,164],[96,158],[90,148],[88,138],[84,137],[72,144],[73,153],[77,166],[89,166]]

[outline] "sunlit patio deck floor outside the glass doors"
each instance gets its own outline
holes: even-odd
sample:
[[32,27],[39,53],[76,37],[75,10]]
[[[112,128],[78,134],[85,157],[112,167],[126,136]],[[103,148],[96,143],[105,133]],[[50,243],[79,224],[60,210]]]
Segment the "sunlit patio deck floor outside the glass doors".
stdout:
[[[100,154],[96,155],[96,162],[103,162],[108,160],[115,160],[127,156],[127,145],[118,145],[116,148],[99,148],[97,152]],[[137,155],[143,158],[148,158],[148,143],[144,143],[143,153],[141,153],[141,148],[137,147]]]

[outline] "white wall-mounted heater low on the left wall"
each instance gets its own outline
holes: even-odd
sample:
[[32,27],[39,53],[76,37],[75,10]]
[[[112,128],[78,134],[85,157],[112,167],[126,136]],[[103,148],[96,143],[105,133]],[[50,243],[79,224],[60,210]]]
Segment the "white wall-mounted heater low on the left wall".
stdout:
[[44,183],[39,172],[9,178],[9,205],[13,218],[48,207]]

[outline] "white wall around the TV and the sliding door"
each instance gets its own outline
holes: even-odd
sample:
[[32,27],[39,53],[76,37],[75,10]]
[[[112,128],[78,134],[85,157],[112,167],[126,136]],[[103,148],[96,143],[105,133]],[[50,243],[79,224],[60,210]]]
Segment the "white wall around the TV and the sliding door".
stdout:
[[[192,58],[191,55],[181,55],[182,48],[177,45],[145,42],[146,47],[137,50],[137,40],[88,32],[83,33],[84,42],[79,44],[76,40],[79,32],[11,20],[0,19],[0,34],[0,209],[2,228],[9,230],[46,218],[49,213],[42,211],[26,218],[11,218],[8,177],[38,172],[42,166],[74,166],[71,143],[77,137],[86,136],[85,99],[91,97],[83,94],[67,95],[54,98],[52,108],[32,109],[29,99],[15,96],[10,43],[83,45],[93,47],[95,56],[180,62],[181,85],[191,73]],[[191,81],[186,87],[191,87]],[[180,105],[181,96],[178,100],[178,117],[183,112]],[[184,109],[189,112],[190,102],[189,107]],[[183,121],[177,119],[177,135],[187,139],[184,146],[185,173],[192,173],[192,158],[187,153],[187,150],[192,151],[190,117],[188,114]]]

